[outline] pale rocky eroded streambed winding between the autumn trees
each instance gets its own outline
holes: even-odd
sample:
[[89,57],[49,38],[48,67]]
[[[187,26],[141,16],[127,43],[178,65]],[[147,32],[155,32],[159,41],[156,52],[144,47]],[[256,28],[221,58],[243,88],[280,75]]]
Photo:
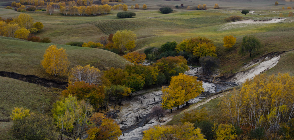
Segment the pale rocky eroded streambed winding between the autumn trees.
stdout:
[[[191,68],[190,71],[185,72],[187,75],[202,77],[199,74],[199,68]],[[207,96],[226,90],[238,84],[232,82],[211,82],[207,79],[197,78],[203,81],[204,92],[194,99],[190,99],[188,103],[195,104]],[[121,126],[122,135],[119,139],[122,140],[140,140],[143,138],[143,131],[151,126],[159,125],[160,122],[152,116],[152,108],[161,106],[161,90],[156,91],[139,91],[133,94],[131,99],[128,99],[126,104],[119,108],[118,118],[116,122]],[[142,101],[142,102],[141,102]],[[181,107],[180,107],[181,108]],[[176,110],[176,107],[173,108]],[[137,121],[137,117],[139,118]],[[168,110],[165,116],[161,118],[162,124],[166,124],[173,117],[173,113],[169,114]]]

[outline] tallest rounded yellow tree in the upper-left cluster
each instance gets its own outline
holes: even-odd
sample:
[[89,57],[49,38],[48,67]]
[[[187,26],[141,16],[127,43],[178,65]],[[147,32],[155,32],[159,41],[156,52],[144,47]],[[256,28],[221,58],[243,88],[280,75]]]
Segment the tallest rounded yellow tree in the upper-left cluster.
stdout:
[[30,29],[34,25],[34,18],[28,14],[22,13],[19,14],[17,18],[14,18],[13,22],[22,28]]

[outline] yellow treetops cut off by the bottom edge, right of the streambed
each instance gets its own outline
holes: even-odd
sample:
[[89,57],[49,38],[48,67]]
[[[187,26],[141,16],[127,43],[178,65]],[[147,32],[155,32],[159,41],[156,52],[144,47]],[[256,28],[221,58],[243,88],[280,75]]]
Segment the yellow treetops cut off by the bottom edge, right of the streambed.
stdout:
[[207,140],[199,128],[188,122],[180,125],[154,126],[143,131],[143,140]]

